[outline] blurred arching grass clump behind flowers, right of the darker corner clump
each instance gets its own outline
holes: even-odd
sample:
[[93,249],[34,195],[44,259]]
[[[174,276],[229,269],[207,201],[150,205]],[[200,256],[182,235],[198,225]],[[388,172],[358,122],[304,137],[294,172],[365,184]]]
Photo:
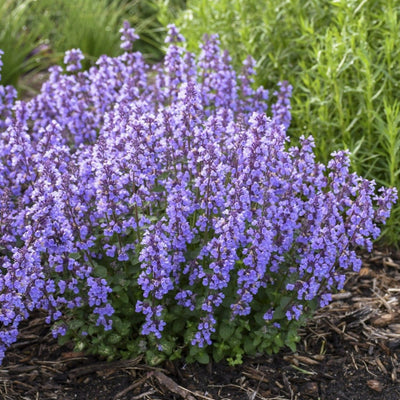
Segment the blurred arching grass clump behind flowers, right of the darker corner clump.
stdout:
[[162,55],[156,8],[150,1],[41,0],[35,7],[59,60],[72,48],[82,50],[86,67],[103,54],[113,57],[122,54],[119,29],[124,20],[141,36],[135,50],[153,60]]

